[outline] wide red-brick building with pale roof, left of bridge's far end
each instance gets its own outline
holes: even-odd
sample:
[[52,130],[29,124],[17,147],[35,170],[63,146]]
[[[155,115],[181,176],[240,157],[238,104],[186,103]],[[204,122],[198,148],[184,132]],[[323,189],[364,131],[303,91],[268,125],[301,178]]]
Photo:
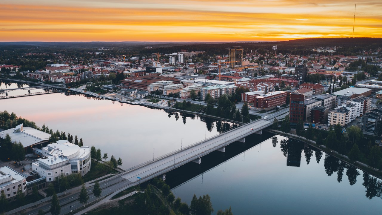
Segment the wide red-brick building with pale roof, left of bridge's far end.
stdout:
[[266,94],[261,94],[256,96],[253,101],[253,106],[257,110],[270,110],[274,109],[276,106],[281,106],[286,104],[286,92],[285,91],[274,91]]

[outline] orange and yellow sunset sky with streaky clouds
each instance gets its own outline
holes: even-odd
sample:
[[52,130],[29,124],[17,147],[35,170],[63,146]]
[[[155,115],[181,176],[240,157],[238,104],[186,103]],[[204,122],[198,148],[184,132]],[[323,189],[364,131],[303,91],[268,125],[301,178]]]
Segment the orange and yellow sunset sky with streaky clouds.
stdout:
[[0,41],[382,37],[381,0],[1,0]]

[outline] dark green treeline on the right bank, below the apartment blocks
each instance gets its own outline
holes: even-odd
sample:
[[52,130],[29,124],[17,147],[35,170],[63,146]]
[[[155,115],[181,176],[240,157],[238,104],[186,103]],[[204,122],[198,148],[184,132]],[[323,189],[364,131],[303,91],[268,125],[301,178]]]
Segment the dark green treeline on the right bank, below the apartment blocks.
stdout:
[[[278,123],[274,121],[272,127],[275,129],[278,127]],[[382,153],[375,137],[365,138],[359,127],[352,125],[344,132],[340,124],[330,126],[328,130],[313,129],[312,124],[309,124],[308,129],[304,130],[304,122],[299,121],[295,129],[297,135],[303,136],[307,140],[315,140],[317,145],[325,145],[340,155],[346,155],[353,163],[359,161],[366,163],[371,168],[382,169]],[[377,129],[382,132],[382,127]],[[289,116],[283,119],[280,130],[290,133]]]

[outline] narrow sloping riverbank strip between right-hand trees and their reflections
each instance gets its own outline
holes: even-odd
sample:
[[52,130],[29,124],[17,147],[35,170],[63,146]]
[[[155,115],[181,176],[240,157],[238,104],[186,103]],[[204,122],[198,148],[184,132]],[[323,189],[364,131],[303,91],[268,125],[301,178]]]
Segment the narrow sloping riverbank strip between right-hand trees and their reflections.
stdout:
[[339,154],[337,151],[334,151],[330,148],[327,148],[324,145],[317,145],[316,141],[307,140],[305,137],[301,137],[301,136],[291,134],[291,133],[284,133],[284,132],[279,131],[279,130],[267,129],[267,131],[270,133],[273,133],[273,134],[278,134],[278,135],[286,136],[288,138],[293,138],[295,140],[302,141],[302,142],[304,142],[304,143],[306,143],[306,144],[308,144],[308,145],[310,145],[310,146],[312,146],[312,147],[314,147],[320,151],[323,151],[329,155],[332,155],[332,156],[340,159],[341,161],[343,161],[345,163],[348,163],[349,165],[355,166],[356,168],[361,169],[362,171],[364,171],[364,172],[366,172],[366,173],[368,173],[368,174],[370,174],[376,178],[382,179],[382,172],[379,169],[370,168],[365,163],[361,163],[359,161],[355,161],[354,163],[352,163],[350,161],[350,159],[348,158],[348,156]]

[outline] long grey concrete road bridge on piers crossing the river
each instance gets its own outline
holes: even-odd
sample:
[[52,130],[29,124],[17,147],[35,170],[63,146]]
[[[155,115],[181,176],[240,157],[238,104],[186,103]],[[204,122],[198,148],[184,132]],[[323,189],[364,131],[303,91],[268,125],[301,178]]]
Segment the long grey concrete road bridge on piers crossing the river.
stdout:
[[272,125],[274,118],[277,118],[278,120],[282,119],[288,114],[288,111],[289,109],[282,109],[275,114],[268,116],[266,120],[261,119],[249,122],[228,130],[223,134],[206,138],[200,142],[126,169],[126,172],[118,174],[118,176],[115,177],[122,177],[129,181],[129,183],[126,183],[127,185],[122,187],[121,190],[149,181],[158,176],[163,176],[163,179],[165,179],[165,173],[168,171],[191,161],[200,164],[202,162],[202,157],[212,151],[217,150],[225,152],[225,146],[236,141],[244,143],[246,136],[251,134],[261,134],[262,129]]

